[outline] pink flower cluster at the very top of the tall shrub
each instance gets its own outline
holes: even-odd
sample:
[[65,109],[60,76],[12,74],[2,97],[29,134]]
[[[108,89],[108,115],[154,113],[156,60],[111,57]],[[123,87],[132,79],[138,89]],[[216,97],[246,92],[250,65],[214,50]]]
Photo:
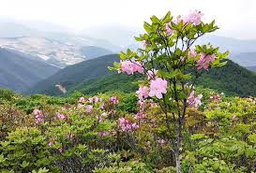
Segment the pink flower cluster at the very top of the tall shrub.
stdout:
[[183,21],[184,23],[191,23],[194,25],[199,25],[202,21],[203,13],[199,10],[194,10],[188,16],[178,16],[177,17],[177,23]]

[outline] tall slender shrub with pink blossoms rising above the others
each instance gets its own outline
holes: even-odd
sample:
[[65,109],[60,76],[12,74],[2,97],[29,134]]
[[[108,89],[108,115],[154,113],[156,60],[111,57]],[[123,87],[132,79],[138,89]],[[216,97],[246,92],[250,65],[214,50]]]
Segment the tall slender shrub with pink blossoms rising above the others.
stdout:
[[[203,70],[225,65],[222,60],[228,55],[209,43],[193,47],[198,38],[218,29],[215,21],[204,23],[202,16],[198,10],[175,20],[171,12],[162,19],[152,16],[151,23],[144,22],[145,34],[136,37],[143,48],[121,52],[120,64],[115,63],[111,68],[128,75],[138,72],[144,76],[137,94],[140,100],[148,97],[157,100],[165,114],[167,138],[174,144],[178,173],[181,172],[180,154],[187,109],[202,105],[203,94],[195,95],[192,91],[195,81]],[[171,129],[171,121],[175,122],[174,129]],[[175,139],[170,136],[173,131]]]

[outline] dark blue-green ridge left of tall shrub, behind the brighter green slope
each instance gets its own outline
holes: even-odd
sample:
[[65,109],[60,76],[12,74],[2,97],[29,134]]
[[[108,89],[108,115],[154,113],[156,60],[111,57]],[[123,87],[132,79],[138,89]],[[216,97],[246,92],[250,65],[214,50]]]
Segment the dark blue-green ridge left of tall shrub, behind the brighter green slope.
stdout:
[[84,61],[77,65],[69,65],[59,70],[52,77],[39,81],[25,94],[62,94],[55,85],[61,85],[69,91],[83,81],[111,75],[113,72],[110,72],[107,67],[113,65],[113,62],[116,61],[119,61],[119,56],[111,54]]

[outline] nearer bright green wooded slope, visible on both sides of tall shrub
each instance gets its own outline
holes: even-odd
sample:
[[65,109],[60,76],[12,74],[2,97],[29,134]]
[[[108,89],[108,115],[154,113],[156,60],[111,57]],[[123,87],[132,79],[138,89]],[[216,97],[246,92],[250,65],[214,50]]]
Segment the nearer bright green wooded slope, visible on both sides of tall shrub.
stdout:
[[[138,90],[136,83],[130,83],[130,81],[135,82],[137,79],[139,79],[138,76],[113,74],[112,76],[84,81],[74,87],[72,91],[97,94],[119,90],[129,93]],[[232,61],[221,68],[211,69],[204,73],[197,84],[225,94],[256,95],[256,75]]]

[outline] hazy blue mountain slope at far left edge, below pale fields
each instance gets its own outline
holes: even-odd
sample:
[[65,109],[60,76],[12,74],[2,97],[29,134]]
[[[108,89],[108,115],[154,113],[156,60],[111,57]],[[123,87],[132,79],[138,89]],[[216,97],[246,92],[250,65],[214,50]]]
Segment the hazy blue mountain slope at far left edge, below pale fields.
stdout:
[[0,87],[23,92],[59,68],[33,60],[24,53],[0,49]]

